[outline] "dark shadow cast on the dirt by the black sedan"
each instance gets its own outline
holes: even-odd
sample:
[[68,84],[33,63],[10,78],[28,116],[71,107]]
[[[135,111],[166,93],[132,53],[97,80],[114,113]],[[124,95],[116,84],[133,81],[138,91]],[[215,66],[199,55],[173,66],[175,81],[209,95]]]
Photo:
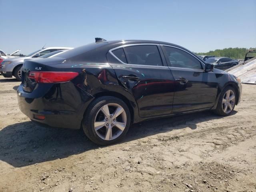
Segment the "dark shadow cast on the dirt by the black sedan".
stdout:
[[[198,112],[140,122],[130,127],[123,142],[186,127],[196,129],[200,122],[220,118],[224,117],[212,112]],[[46,128],[31,121],[16,123],[0,131],[0,160],[14,167],[66,158],[98,147],[82,130]]]

